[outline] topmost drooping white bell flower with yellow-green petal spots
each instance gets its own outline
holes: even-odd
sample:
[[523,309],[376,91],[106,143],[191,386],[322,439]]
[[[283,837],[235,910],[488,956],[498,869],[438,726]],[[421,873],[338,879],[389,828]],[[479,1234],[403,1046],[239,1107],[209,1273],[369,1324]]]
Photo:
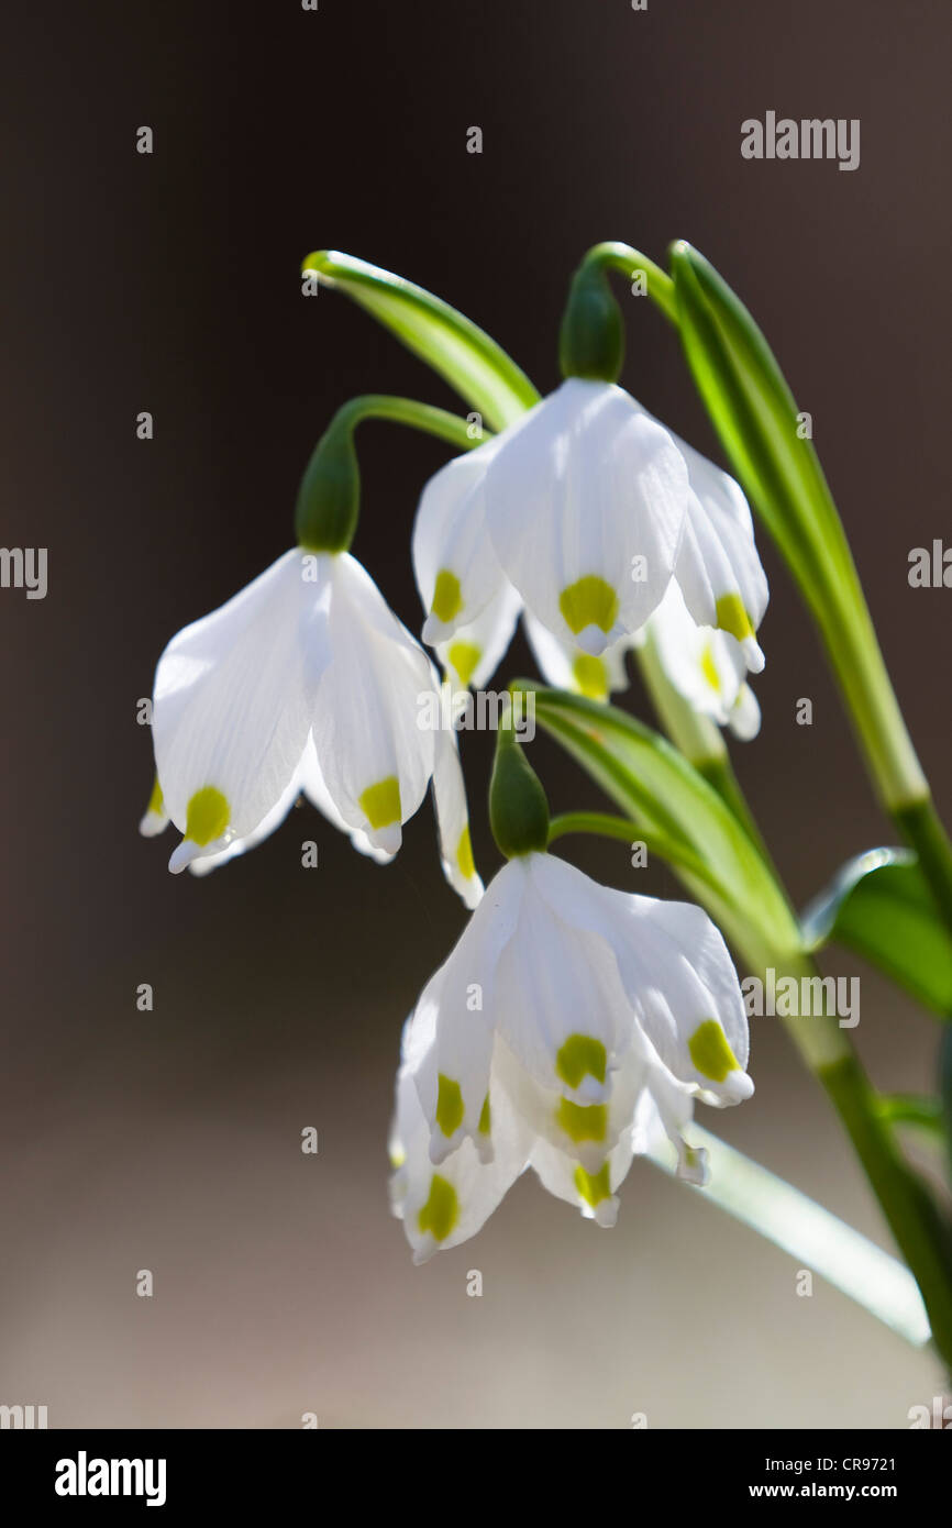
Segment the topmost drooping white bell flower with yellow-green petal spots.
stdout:
[[413,556],[423,640],[460,683],[489,677],[524,607],[536,654],[607,694],[672,579],[698,625],[763,668],[767,581],[740,486],[608,382],[570,377],[437,472]]

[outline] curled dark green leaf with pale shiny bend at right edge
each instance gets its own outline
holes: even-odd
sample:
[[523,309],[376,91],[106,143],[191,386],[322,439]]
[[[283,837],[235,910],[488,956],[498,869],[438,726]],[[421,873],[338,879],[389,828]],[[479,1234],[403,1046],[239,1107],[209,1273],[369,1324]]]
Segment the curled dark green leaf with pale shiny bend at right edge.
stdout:
[[836,940],[952,1016],[952,938],[909,850],[869,850],[850,860],[810,903],[802,927],[811,949]]

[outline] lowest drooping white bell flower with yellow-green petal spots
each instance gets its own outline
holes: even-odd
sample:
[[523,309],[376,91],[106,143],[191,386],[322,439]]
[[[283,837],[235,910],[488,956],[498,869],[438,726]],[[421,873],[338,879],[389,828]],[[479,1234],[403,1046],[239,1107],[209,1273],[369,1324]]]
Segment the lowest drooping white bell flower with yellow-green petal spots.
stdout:
[[692,1100],[747,1099],[747,1019],[708,915],[512,859],[406,1024],[391,1196],[417,1262],[472,1236],[526,1166],[602,1225],[656,1128],[703,1181]]

